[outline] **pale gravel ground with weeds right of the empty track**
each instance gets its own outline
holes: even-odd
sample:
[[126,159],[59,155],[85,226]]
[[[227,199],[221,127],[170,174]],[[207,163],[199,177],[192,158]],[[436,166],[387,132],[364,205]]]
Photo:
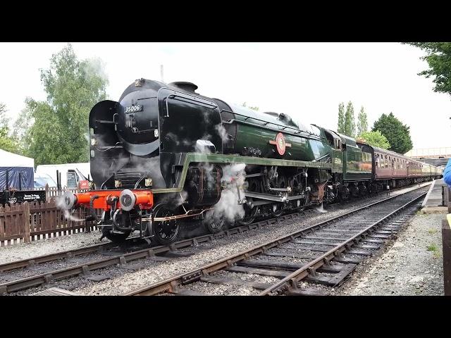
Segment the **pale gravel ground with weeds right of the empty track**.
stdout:
[[443,214],[415,215],[383,253],[357,266],[340,295],[443,296]]

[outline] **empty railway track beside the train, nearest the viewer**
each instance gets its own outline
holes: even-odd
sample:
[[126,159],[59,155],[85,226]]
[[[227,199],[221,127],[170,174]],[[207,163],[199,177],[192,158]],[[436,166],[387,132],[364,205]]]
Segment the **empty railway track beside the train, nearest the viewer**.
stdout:
[[424,196],[389,197],[124,295],[209,295],[217,285],[260,296],[326,295],[309,286],[342,284],[421,208]]

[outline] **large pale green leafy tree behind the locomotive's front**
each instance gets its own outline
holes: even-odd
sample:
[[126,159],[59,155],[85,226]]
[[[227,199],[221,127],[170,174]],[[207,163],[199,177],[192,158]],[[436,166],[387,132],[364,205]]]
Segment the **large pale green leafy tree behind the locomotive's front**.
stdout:
[[47,101],[27,98],[15,124],[25,155],[37,165],[89,161],[89,111],[106,99],[103,63],[79,61],[68,44],[41,70],[41,81]]

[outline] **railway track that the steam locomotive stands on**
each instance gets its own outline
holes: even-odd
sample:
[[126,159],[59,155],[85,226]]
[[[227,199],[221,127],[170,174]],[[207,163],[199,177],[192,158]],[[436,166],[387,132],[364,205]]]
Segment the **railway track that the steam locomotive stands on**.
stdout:
[[[393,198],[393,197],[392,197]],[[385,201],[385,200],[384,200]],[[380,203],[380,202],[376,202]],[[372,205],[372,204],[371,204]],[[358,209],[359,210],[359,209]],[[273,218],[269,220],[263,220],[261,222],[253,223],[252,225],[243,225],[240,227],[235,227],[233,229],[227,230],[226,232],[220,232],[218,234],[206,234],[199,237],[194,237],[192,239],[185,239],[179,242],[175,242],[171,246],[154,246],[149,247],[145,246],[144,249],[130,249],[126,247],[122,247],[122,252],[113,253],[113,252],[105,252],[112,248],[117,248],[117,244],[112,243],[102,243],[96,244],[93,246],[87,246],[80,249],[68,250],[59,253],[54,253],[46,256],[39,256],[35,258],[28,258],[22,261],[16,261],[11,263],[6,263],[0,265],[0,271],[11,273],[13,270],[18,270],[20,268],[36,268],[36,265],[39,263],[46,263],[56,260],[61,260],[62,258],[74,258],[75,256],[82,256],[88,253],[94,254],[102,254],[106,253],[109,257],[102,257],[101,259],[97,259],[94,261],[88,261],[85,263],[80,263],[77,265],[70,266],[68,268],[60,268],[56,270],[45,270],[43,273],[38,273],[37,275],[32,275],[30,277],[18,278],[15,280],[11,280],[8,282],[4,282],[0,284],[0,294],[10,294],[12,292],[17,292],[23,289],[28,289],[31,287],[37,287],[42,284],[46,284],[48,282],[52,282],[54,280],[59,280],[67,277],[74,277],[77,275],[90,275],[92,271],[98,270],[101,268],[106,268],[111,265],[125,265],[131,261],[135,261],[143,258],[151,258],[156,261],[159,260],[160,255],[168,255],[169,257],[177,257],[180,256],[176,250],[183,249],[190,246],[197,246],[198,244],[204,242],[210,242],[214,239],[221,239],[223,237],[229,237],[233,234],[239,234],[242,232],[247,232],[249,230],[259,229],[261,227],[267,225],[275,225],[283,220],[297,220],[302,213],[295,213],[290,215],[284,215],[280,218]],[[129,239],[128,241],[134,242],[133,239]],[[141,246],[142,248],[142,246]],[[131,252],[125,252],[125,251]],[[183,255],[181,255],[183,256]],[[39,268],[36,269],[39,271]],[[0,275],[1,277],[1,275]],[[11,278],[11,277],[10,277]],[[12,277],[14,278],[14,277]]]

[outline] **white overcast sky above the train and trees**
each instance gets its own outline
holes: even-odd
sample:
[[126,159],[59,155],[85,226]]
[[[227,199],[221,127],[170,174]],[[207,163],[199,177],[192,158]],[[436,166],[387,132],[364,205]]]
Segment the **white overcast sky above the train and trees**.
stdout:
[[[24,99],[44,100],[39,68],[64,43],[0,43],[0,102],[11,121]],[[338,104],[364,106],[373,125],[393,112],[410,126],[414,148],[451,146],[451,96],[433,92],[424,52],[397,43],[73,43],[80,59],[99,57],[117,101],[134,80],[197,84],[199,94],[288,113],[337,129]]]

